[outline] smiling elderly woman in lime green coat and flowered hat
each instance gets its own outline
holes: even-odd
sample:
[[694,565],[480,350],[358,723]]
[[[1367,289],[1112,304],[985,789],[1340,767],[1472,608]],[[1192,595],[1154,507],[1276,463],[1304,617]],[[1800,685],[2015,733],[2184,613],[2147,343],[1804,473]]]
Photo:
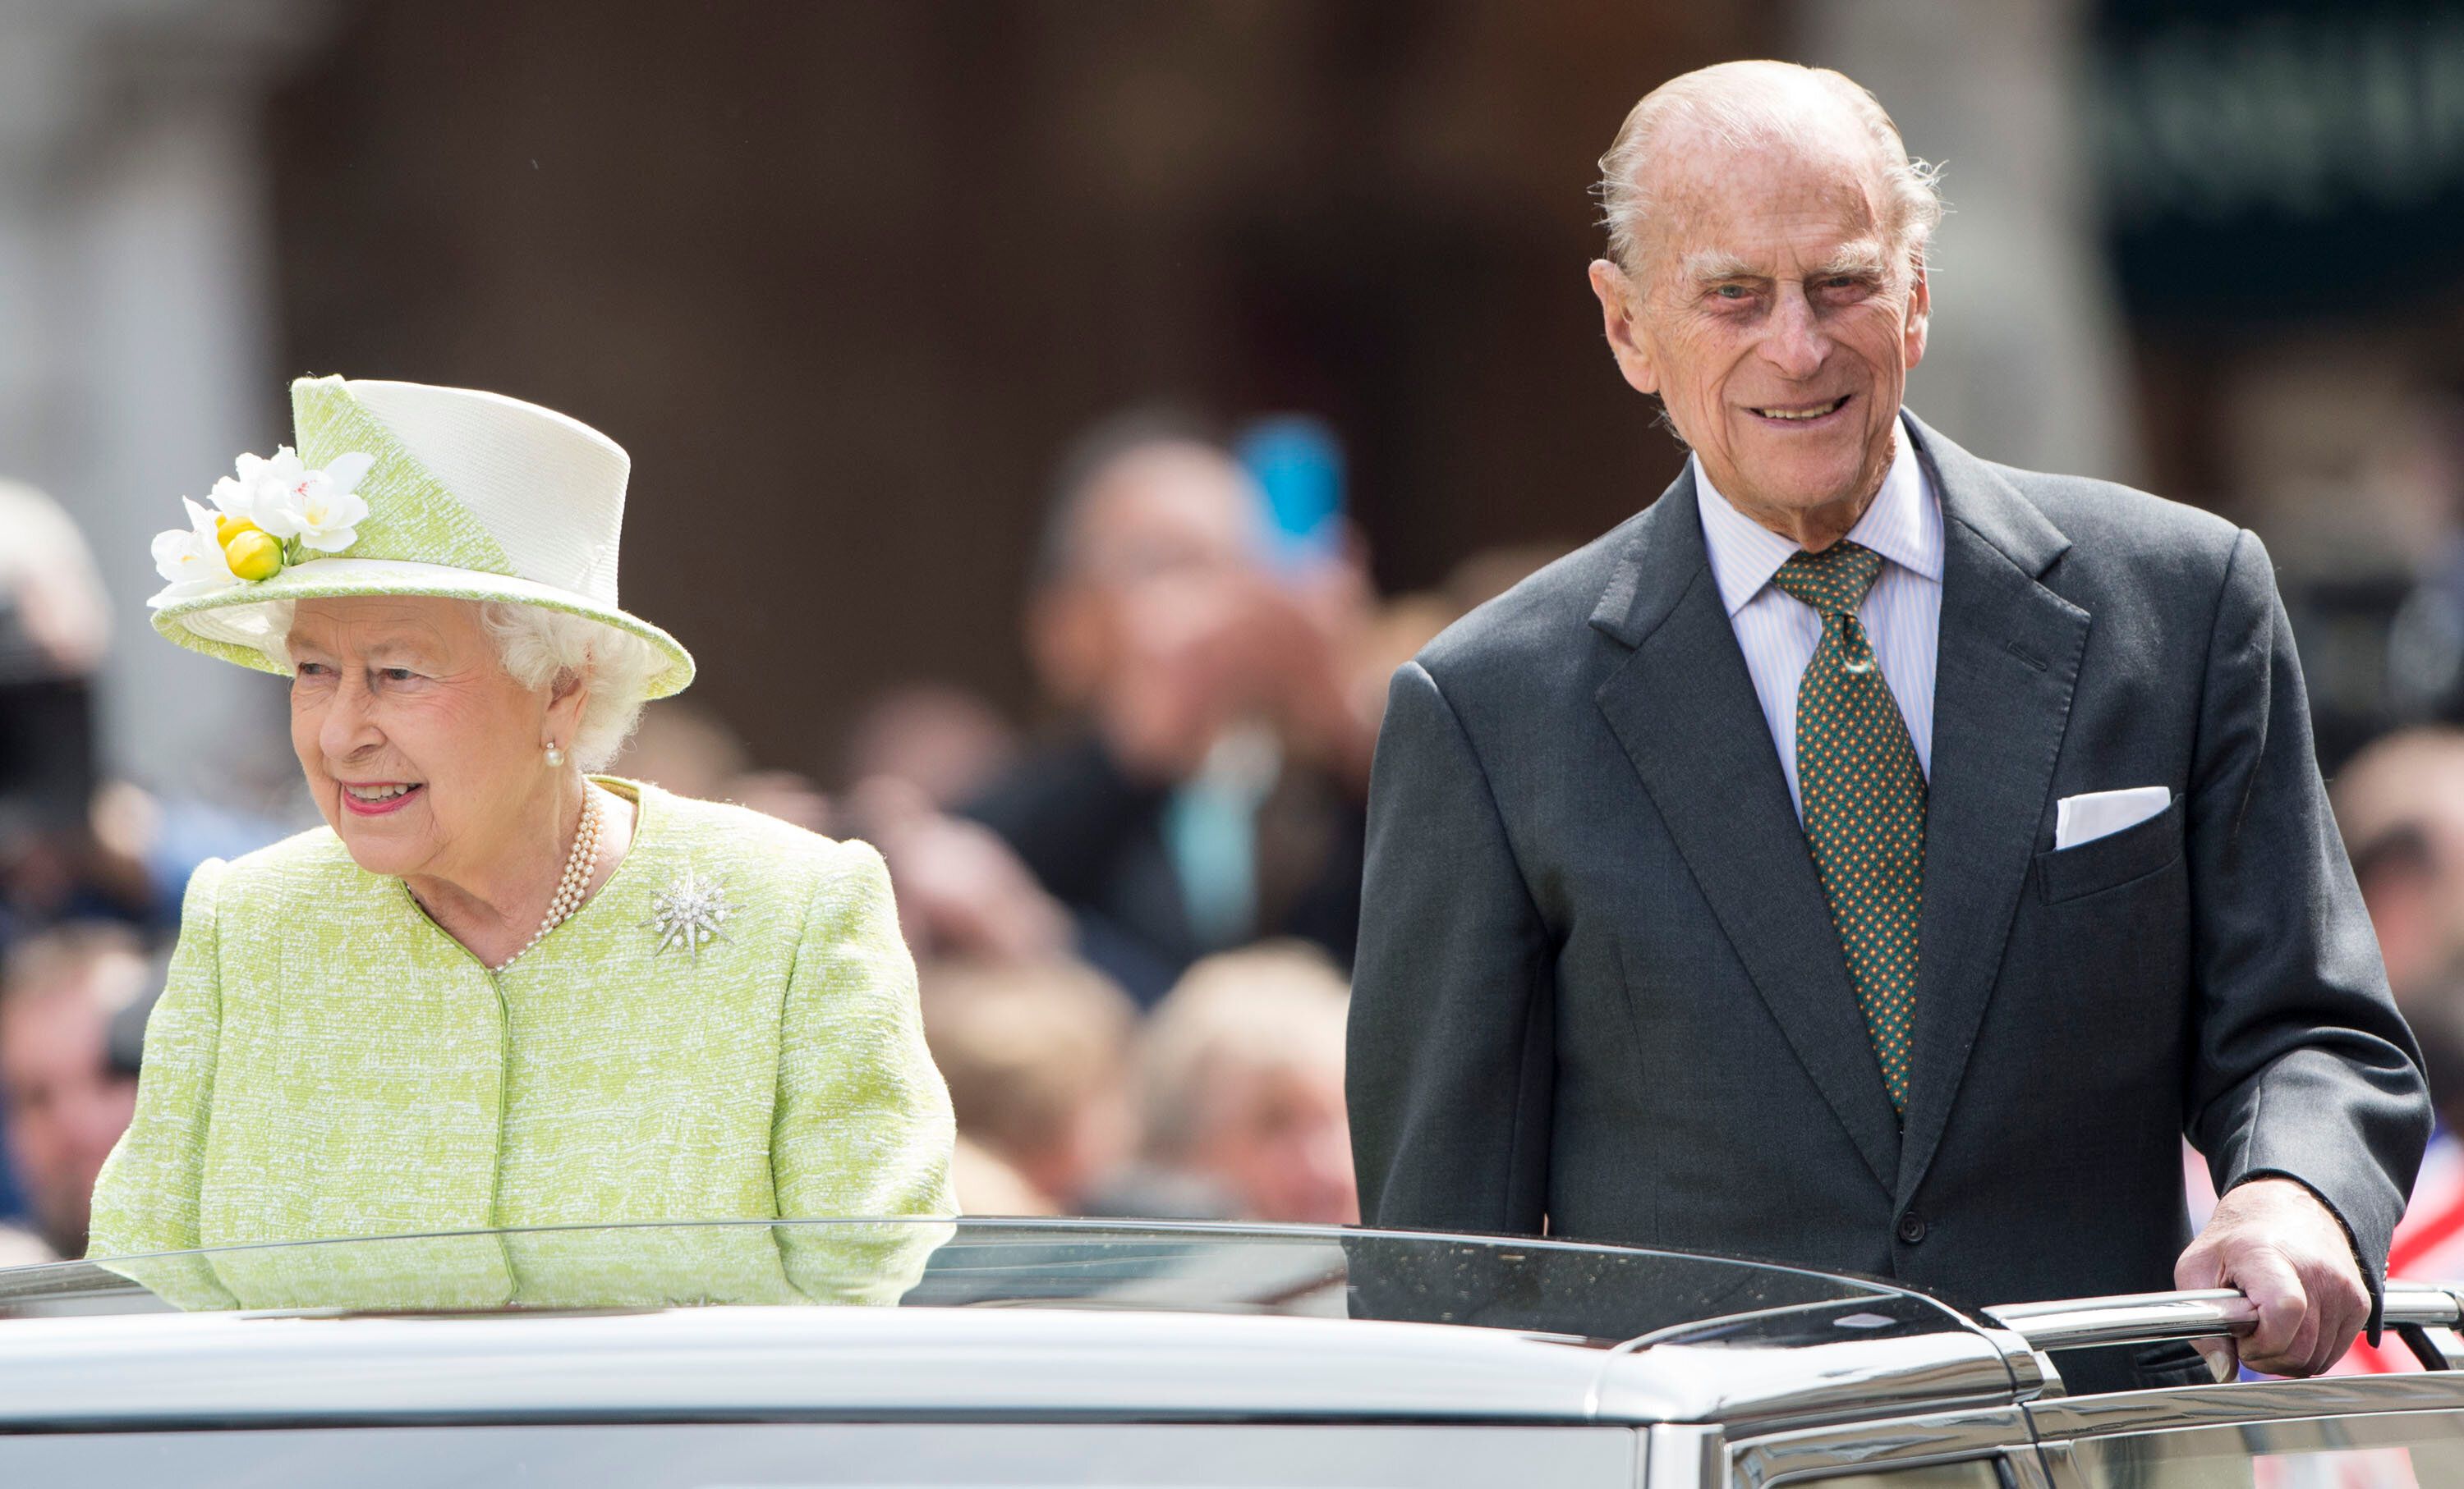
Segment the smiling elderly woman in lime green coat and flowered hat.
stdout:
[[[153,605],[291,677],[325,827],[190,881],[91,1253],[951,1213],[880,856],[591,775],[692,679],[616,608],[626,453],[495,394],[328,377],[291,401],[298,453],[241,455],[155,539]],[[121,1270],[192,1307],[894,1297],[922,1255],[897,1233],[934,1228],[877,1231]]]

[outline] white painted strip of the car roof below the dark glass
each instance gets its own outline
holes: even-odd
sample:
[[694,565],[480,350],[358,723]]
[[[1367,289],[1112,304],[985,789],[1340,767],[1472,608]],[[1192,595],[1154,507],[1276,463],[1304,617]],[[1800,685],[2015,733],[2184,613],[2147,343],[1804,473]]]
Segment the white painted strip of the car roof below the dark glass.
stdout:
[[1651,1354],[1441,1324],[1072,1309],[150,1314],[0,1336],[0,1427],[557,1420],[1811,1423],[2011,1400],[1976,1336]]

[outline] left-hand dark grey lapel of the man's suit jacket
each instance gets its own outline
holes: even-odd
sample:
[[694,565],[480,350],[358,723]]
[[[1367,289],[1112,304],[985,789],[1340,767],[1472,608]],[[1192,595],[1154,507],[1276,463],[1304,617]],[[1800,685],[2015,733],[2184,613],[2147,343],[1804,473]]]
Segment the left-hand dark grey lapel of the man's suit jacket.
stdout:
[[1710,573],[1690,468],[1634,522],[1592,625],[1634,647],[1594,694],[1602,716],[1789,1048],[1875,1181],[1892,1189],[1897,1120],[1754,679]]

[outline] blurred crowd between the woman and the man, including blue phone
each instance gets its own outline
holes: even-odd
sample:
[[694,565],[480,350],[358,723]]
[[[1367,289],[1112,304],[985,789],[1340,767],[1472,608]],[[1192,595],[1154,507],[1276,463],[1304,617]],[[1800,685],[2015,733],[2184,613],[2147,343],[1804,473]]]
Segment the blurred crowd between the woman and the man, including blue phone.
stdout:
[[823,790],[653,704],[616,770],[882,849],[971,1213],[1348,1223],[1385,682],[1550,556],[1380,598],[1323,428],[1131,411],[1047,492],[1018,623],[1032,719],[897,687]]

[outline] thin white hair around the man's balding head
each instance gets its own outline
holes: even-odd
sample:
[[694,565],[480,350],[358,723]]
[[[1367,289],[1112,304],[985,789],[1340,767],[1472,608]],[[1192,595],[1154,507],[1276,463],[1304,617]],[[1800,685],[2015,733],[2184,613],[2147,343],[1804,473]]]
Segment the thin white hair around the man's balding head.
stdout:
[[1609,258],[1626,273],[1641,273],[1641,249],[1656,209],[1643,175],[1671,126],[1730,148],[1784,148],[1806,138],[1809,121],[1826,103],[1846,111],[1873,143],[1882,177],[1882,226],[1900,261],[1922,268],[1924,249],[1942,224],[1942,192],[1934,185],[1942,167],[1912,160],[1900,126],[1848,74],[1794,62],[1722,62],[1643,94],[1599,158],[1597,192]]

